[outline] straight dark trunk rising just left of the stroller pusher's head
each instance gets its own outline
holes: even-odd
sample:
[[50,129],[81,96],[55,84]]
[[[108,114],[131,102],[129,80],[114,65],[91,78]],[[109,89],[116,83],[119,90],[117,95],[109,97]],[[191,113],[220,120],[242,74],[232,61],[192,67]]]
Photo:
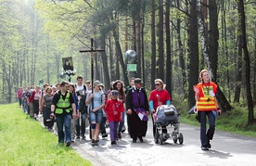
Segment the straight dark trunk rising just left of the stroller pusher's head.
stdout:
[[157,54],[157,48],[156,48],[156,19],[155,19],[155,0],[151,0],[151,89],[155,89],[155,83],[156,80],[156,54]]

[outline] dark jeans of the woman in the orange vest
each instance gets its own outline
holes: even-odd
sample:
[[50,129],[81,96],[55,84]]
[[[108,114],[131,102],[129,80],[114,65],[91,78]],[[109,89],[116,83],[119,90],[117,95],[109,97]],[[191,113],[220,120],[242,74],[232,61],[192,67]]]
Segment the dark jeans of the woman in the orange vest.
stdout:
[[[215,132],[215,117],[211,111],[199,111],[200,113],[200,140],[201,146],[205,147],[212,140]],[[209,121],[209,129],[206,132],[206,116]]]

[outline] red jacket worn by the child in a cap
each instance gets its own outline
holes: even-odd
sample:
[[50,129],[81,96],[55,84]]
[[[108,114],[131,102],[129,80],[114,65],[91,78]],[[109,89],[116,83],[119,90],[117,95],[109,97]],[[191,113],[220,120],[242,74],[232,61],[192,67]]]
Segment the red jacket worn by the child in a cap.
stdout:
[[109,99],[105,106],[108,121],[121,121],[121,112],[124,111],[122,100]]

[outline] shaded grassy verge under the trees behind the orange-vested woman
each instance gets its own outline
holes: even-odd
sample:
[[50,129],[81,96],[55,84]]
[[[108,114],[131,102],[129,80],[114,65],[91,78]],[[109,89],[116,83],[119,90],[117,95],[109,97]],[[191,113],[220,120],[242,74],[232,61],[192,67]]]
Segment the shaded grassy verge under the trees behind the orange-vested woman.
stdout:
[[[182,100],[180,100],[180,102],[174,101],[173,105],[182,114],[182,123],[199,126],[199,122],[195,118],[196,115],[188,114],[189,108],[187,108],[186,102],[182,102]],[[256,123],[248,125],[248,110],[239,105],[233,107],[234,109],[223,112],[223,114],[216,119],[216,130],[256,137]]]

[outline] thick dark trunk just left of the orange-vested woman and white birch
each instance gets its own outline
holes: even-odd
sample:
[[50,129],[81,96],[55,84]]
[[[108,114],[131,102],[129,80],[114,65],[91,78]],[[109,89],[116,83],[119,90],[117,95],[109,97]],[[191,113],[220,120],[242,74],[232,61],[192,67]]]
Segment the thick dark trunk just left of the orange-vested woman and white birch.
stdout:
[[189,80],[188,80],[188,105],[193,107],[196,103],[193,85],[198,83],[198,17],[197,0],[190,2],[189,15]]

